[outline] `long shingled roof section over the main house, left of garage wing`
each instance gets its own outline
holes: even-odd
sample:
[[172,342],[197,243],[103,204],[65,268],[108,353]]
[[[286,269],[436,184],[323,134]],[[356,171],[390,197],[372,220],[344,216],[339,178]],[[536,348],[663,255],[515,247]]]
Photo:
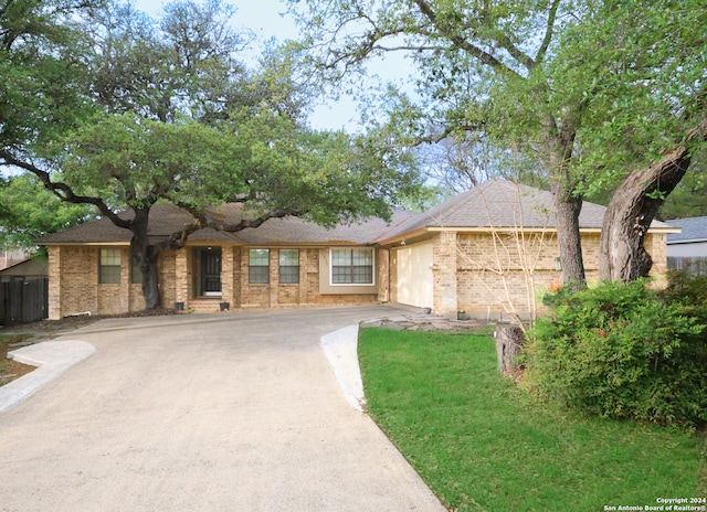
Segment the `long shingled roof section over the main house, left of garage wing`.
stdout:
[[[213,212],[225,223],[236,224],[242,217],[240,204],[225,204]],[[238,233],[225,233],[212,228],[200,230],[189,236],[190,242],[229,242],[249,245],[277,244],[368,244],[382,233],[400,224],[412,214],[395,211],[390,223],[382,218],[340,224],[331,230],[297,217],[271,218],[257,228],[246,228]],[[130,218],[131,212],[120,214],[122,218]],[[148,236],[154,239],[165,238],[179,232],[191,223],[192,217],[183,210],[171,204],[157,204],[150,210]],[[129,243],[131,233],[117,227],[108,218],[82,224],[70,230],[54,233],[38,241],[41,245],[64,244],[110,244]]]

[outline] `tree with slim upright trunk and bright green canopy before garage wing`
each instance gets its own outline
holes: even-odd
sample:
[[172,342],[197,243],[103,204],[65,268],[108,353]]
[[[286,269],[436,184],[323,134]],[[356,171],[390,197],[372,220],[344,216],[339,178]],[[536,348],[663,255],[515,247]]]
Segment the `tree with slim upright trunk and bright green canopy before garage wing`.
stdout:
[[[615,186],[677,147],[692,154],[704,140],[695,131],[705,111],[707,50],[698,0],[289,4],[305,33],[297,51],[325,79],[345,79],[380,55],[407,54],[412,90],[387,92],[388,119],[378,120],[397,143],[471,138],[518,151],[546,172],[566,280],[584,278],[583,194]],[[626,223],[623,215],[650,224],[674,186],[665,173],[673,168],[655,167],[661,185],[635,188],[641,209],[619,202],[610,223]],[[636,249],[629,266],[644,233],[621,234]]]

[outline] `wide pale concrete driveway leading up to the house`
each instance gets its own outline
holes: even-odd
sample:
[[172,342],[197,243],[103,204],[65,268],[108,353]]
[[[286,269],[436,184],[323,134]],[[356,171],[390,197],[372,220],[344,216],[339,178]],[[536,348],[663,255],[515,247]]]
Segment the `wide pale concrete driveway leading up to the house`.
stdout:
[[[394,312],[394,310],[392,310]],[[323,334],[391,308],[104,320],[0,413],[2,511],[443,511],[338,387]]]

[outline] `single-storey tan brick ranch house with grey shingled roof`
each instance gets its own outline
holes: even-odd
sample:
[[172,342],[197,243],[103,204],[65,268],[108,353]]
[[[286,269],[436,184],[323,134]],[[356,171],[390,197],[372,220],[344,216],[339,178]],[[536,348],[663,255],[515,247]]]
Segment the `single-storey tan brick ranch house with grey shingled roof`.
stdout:
[[[580,217],[588,279],[597,279],[604,207],[584,203]],[[221,213],[236,222],[239,210]],[[157,241],[188,223],[171,205],[152,209]],[[671,226],[646,235],[653,274],[666,267]],[[130,233],[107,218],[40,241],[49,247],[50,319],[144,308]],[[272,218],[238,233],[202,230],[158,260],[165,308],[217,312],[246,308],[398,302],[435,313],[523,316],[561,281],[552,195],[493,180],[390,223],[371,218],[326,230],[296,217]]]

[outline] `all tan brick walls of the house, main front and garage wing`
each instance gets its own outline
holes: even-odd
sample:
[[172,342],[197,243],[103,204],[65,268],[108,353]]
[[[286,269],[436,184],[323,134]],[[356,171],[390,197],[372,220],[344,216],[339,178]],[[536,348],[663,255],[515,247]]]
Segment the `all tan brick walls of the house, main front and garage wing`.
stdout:
[[[599,278],[599,233],[582,235],[584,266],[590,282]],[[650,233],[645,239],[646,249],[654,260],[651,274],[656,277],[658,286],[665,282],[665,234]],[[217,312],[222,301],[230,302],[233,310],[376,303],[391,297],[394,300],[395,269],[391,268],[387,249],[378,249],[376,254],[377,294],[321,294],[320,259],[326,250],[325,247],[300,248],[299,284],[281,285],[278,249],[271,248],[271,282],[251,285],[247,248],[224,246],[223,294],[220,298],[194,297],[193,279],[198,270],[193,247],[162,252],[158,260],[162,306],[173,308],[175,302],[183,302],[186,310]],[[85,311],[114,314],[144,309],[140,286],[129,282],[129,248],[122,248],[122,277],[117,285],[98,285],[99,255],[98,246],[50,247],[51,319]],[[545,290],[561,284],[561,273],[556,270],[559,248],[553,234],[529,234],[516,238],[511,234],[439,233],[433,238],[433,255],[434,310],[437,312],[466,310],[481,316],[490,312],[495,317],[514,309],[528,311],[534,301],[541,308]],[[525,259],[524,265],[520,258]],[[524,271],[523,268],[532,271]]]

